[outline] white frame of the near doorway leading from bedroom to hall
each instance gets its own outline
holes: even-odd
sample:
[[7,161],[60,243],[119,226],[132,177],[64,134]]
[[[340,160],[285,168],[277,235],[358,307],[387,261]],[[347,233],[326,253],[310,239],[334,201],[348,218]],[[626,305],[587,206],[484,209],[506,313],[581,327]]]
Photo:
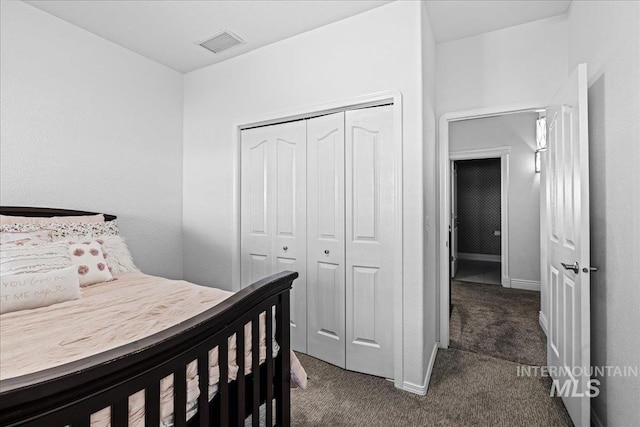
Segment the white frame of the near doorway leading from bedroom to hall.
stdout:
[[538,104],[515,104],[495,107],[485,107],[470,110],[452,111],[440,116],[438,123],[437,152],[437,186],[438,186],[438,248],[437,248],[437,277],[438,277],[438,319],[440,348],[449,347],[449,222],[451,216],[451,171],[449,157],[449,123],[461,120],[480,119],[502,116],[513,113],[543,111],[545,106]]

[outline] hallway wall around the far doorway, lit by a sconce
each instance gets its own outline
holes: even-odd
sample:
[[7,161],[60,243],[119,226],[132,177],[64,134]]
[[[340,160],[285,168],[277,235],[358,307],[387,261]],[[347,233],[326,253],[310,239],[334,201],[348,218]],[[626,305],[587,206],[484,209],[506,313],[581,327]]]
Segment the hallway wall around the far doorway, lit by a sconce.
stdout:
[[509,277],[540,283],[540,174],[535,173],[538,113],[451,122],[449,151],[511,147]]

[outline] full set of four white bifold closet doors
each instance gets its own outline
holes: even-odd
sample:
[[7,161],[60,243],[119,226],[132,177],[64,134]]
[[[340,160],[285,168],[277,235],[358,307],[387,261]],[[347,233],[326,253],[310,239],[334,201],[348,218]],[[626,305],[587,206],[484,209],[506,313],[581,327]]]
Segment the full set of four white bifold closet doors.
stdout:
[[241,135],[242,286],[297,271],[293,349],[386,378],[393,377],[392,111],[347,110]]

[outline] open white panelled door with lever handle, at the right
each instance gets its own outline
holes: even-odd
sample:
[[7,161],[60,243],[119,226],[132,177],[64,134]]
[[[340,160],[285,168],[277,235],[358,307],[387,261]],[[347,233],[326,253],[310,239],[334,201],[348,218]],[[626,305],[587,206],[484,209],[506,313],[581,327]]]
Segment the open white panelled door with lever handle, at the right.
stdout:
[[590,425],[590,253],[587,65],[547,108],[546,175],[551,393],[576,426]]

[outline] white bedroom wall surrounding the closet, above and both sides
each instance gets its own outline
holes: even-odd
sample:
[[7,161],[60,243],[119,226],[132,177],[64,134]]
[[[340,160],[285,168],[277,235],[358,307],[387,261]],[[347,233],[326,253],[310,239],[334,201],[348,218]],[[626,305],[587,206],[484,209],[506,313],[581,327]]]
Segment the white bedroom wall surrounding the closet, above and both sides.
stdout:
[[185,277],[231,288],[234,125],[386,90],[403,95],[404,380],[424,382],[420,3],[394,2],[185,76]]

